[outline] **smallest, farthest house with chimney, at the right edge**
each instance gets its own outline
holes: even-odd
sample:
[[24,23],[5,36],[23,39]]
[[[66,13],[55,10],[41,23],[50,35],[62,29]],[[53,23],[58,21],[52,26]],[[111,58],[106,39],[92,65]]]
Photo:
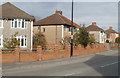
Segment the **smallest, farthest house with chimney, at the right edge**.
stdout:
[[109,27],[109,29],[107,29],[105,32],[107,34],[107,40],[109,40],[109,42],[115,42],[115,39],[119,37],[119,33],[113,30],[112,27]]

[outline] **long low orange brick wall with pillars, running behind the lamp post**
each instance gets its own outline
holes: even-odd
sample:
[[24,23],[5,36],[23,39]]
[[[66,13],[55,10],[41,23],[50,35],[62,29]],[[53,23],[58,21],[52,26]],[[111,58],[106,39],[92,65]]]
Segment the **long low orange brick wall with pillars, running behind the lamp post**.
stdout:
[[[49,45],[50,46],[50,45]],[[32,61],[43,61],[43,60],[52,60],[59,58],[70,57],[70,46],[67,45],[65,50],[60,51],[59,48],[55,48],[53,51],[42,51],[40,46],[37,46],[37,50],[33,53],[21,53],[20,48],[17,46],[14,51],[15,53],[1,53],[2,63],[14,63],[14,62],[32,62]],[[106,44],[94,44],[91,48],[89,45],[86,49],[82,48],[79,45],[73,51],[73,56],[80,56],[86,54],[92,54],[97,52],[105,52]]]

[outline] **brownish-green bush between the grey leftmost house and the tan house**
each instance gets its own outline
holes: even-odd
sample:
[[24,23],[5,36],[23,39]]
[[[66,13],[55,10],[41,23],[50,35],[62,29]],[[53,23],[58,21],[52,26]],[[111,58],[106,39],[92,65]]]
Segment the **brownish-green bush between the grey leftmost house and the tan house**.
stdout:
[[40,31],[33,35],[33,45],[38,46],[40,45],[42,48],[45,48],[46,45],[45,35]]

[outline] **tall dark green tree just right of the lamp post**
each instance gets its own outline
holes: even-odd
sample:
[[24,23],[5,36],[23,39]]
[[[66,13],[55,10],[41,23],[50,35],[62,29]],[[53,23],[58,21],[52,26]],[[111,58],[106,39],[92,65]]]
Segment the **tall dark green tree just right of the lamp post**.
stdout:
[[89,33],[86,30],[85,27],[83,27],[80,31],[79,31],[79,44],[81,44],[84,48],[87,47],[87,45],[89,44]]

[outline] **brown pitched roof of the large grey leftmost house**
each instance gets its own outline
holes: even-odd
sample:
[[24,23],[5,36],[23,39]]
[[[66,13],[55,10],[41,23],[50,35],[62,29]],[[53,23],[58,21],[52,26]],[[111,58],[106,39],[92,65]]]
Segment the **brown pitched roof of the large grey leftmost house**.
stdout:
[[33,16],[27,14],[26,12],[22,11],[21,9],[17,8],[13,4],[7,2],[0,6],[2,12],[0,12],[0,18],[7,18],[7,19],[35,19]]

